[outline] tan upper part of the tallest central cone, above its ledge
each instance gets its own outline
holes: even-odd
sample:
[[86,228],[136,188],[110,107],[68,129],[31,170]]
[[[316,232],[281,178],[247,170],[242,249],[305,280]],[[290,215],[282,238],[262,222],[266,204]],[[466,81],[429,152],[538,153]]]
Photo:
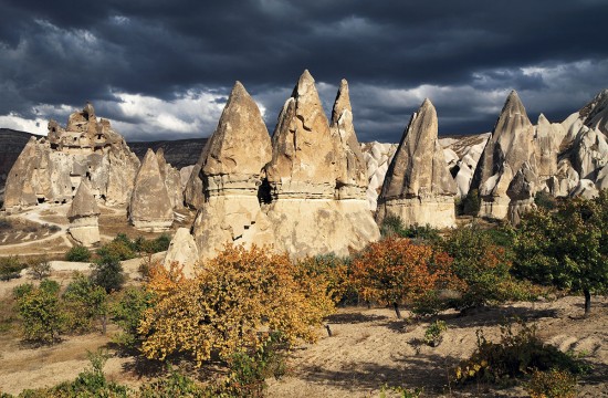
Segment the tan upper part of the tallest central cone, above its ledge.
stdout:
[[279,115],[266,167],[275,198],[334,198],[335,140],[314,83],[304,71]]

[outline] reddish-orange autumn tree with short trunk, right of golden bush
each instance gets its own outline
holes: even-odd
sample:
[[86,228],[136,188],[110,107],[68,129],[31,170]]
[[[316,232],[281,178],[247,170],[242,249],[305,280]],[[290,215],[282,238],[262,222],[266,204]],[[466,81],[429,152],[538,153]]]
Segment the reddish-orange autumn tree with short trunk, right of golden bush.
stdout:
[[451,263],[430,245],[389,237],[369,244],[353,261],[352,282],[364,300],[392,305],[400,318],[401,303],[458,282]]

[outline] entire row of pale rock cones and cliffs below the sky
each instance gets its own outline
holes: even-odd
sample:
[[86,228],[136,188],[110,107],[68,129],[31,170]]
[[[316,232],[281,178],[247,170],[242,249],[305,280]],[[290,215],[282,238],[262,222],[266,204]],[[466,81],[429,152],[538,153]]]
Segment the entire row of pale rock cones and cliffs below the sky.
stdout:
[[454,198],[470,189],[481,197],[480,216],[513,223],[539,191],[595,196],[608,188],[607,134],[608,91],[562,124],[541,115],[536,125],[512,92],[492,133],[458,140],[460,147],[438,138],[429,100],[398,146],[360,145],[347,82],[327,119],[304,71],[272,137],[237,82],[189,177],[161,150],[139,163],[91,104],[65,129],[51,121],[49,136],[32,138],[8,176],[4,208],[71,201],[71,233],[92,244],[99,239],[95,200],[127,207],[132,224],[149,231],[169,228],[174,210],[188,206],[196,220],[177,231],[167,253],[167,261],[188,264],[227,243],[343,255],[379,239],[387,216],[406,226],[454,227]]

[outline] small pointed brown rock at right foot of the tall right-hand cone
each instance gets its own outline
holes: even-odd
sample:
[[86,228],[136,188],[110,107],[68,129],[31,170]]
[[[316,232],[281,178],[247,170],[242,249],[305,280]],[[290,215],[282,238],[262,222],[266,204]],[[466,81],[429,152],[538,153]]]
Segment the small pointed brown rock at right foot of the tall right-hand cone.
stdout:
[[534,209],[534,195],[537,190],[538,177],[536,176],[535,167],[527,161],[523,164],[520,170],[511,180],[506,195],[511,199],[509,202],[509,221],[513,226],[517,226],[522,214]]

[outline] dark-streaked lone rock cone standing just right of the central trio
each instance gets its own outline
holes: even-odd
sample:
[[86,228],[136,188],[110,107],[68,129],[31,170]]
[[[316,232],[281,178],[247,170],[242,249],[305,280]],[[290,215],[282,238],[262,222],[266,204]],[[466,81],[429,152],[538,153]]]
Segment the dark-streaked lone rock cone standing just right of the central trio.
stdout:
[[379,222],[387,216],[397,216],[406,226],[455,226],[457,187],[437,134],[437,112],[424,100],[412,115],[388,168],[378,198]]

